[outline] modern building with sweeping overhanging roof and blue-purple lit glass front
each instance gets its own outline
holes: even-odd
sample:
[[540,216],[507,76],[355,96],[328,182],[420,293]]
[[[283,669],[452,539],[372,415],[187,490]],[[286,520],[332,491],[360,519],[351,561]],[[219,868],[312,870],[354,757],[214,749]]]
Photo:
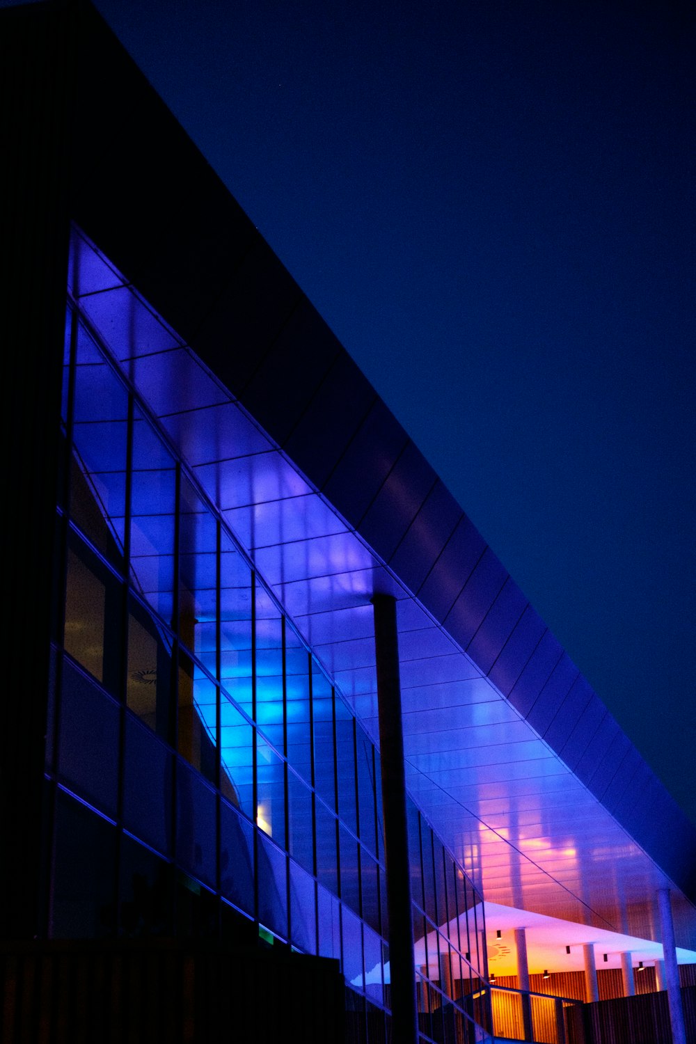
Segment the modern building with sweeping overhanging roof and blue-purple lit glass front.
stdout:
[[686,1040],[693,825],[94,9],[1,29],[3,1040]]

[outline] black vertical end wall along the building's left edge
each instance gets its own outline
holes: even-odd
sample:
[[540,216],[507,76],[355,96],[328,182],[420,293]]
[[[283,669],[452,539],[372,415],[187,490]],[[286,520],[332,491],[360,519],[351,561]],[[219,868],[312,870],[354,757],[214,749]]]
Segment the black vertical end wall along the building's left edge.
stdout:
[[4,939],[45,930],[40,867],[77,64],[72,24],[67,6],[30,4],[4,10],[0,31],[2,548],[3,586],[11,592],[0,712]]

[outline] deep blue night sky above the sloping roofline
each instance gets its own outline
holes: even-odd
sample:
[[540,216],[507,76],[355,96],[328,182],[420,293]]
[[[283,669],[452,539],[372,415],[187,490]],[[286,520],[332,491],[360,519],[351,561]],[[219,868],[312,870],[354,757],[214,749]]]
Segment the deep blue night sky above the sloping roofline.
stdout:
[[97,6],[696,822],[691,5]]

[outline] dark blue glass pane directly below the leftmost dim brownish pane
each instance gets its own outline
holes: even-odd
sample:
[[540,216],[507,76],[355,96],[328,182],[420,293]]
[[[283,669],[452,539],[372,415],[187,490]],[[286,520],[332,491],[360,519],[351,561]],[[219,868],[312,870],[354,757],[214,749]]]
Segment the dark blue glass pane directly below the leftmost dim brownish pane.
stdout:
[[98,808],[115,813],[119,749],[117,705],[64,660],[59,706],[61,779]]

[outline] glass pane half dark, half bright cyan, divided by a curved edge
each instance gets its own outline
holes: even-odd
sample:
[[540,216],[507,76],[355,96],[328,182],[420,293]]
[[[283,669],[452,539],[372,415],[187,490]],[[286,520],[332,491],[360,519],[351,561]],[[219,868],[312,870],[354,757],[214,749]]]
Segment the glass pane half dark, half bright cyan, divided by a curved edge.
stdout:
[[217,779],[217,686],[184,651],[178,660],[178,753],[212,783]]

